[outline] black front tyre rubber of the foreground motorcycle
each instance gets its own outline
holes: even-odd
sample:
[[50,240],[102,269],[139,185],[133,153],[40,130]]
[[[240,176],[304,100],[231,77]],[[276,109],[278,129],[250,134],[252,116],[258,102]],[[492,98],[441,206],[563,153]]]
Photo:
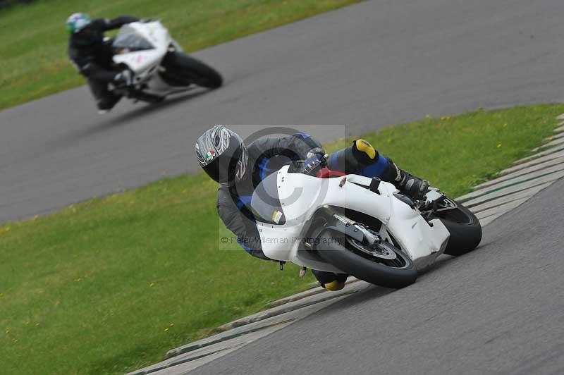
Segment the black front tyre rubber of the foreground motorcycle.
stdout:
[[[341,238],[341,243],[337,242],[336,238]],[[407,255],[405,255],[409,262],[407,267],[405,269],[394,269],[384,266],[384,264],[371,262],[369,259],[348,250],[341,245],[345,243],[345,238],[341,233],[334,232],[333,230],[324,230],[319,235],[319,240],[320,245],[316,247],[319,257],[356,278],[394,289],[415,283],[417,269],[415,269],[415,265]]]

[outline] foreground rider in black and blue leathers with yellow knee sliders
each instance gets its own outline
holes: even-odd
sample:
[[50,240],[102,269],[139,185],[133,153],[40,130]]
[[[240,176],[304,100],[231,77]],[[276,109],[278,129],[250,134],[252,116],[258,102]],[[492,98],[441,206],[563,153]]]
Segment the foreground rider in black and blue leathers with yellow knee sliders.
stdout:
[[[202,169],[221,184],[216,204],[221,220],[237,235],[238,245],[260,259],[270,260],[262,252],[250,199],[257,185],[284,165],[300,163],[301,170],[310,173],[326,162],[333,171],[379,177],[414,199],[422,199],[429,187],[427,181],[398,168],[362,139],[325,159],[321,144],[305,133],[259,137],[246,146],[237,133],[216,125],[198,138],[195,153]],[[347,275],[317,270],[312,273],[328,290],[345,286]]]

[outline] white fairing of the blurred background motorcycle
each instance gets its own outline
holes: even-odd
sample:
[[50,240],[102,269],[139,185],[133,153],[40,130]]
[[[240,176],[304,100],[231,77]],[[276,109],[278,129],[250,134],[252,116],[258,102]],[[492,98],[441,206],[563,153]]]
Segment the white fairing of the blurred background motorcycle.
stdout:
[[153,49],[130,51],[114,55],[114,63],[125,64],[135,73],[135,83],[147,85],[149,94],[166,95],[187,90],[188,87],[171,87],[159,76],[161,61],[164,59],[171,44],[176,51],[182,51],[178,43],[159,21],[149,23],[128,23],[121,27],[120,33],[136,32],[152,44]]

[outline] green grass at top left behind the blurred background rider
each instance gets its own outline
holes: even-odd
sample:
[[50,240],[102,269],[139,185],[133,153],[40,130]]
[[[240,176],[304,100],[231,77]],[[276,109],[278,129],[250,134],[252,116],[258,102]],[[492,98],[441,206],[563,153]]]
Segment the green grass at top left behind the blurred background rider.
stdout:
[[[66,18],[161,19],[187,51],[331,11],[360,0],[37,0],[0,10],[0,110],[82,85],[67,56]],[[212,61],[213,63],[213,61]]]

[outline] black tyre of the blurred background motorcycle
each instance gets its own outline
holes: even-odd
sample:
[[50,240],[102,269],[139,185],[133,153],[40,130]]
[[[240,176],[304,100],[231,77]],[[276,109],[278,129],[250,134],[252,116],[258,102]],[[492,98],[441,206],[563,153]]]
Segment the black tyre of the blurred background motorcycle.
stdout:
[[221,74],[214,68],[182,52],[167,54],[162,65],[166,71],[161,73],[161,77],[169,85],[188,86],[195,83],[209,89],[223,85]]

